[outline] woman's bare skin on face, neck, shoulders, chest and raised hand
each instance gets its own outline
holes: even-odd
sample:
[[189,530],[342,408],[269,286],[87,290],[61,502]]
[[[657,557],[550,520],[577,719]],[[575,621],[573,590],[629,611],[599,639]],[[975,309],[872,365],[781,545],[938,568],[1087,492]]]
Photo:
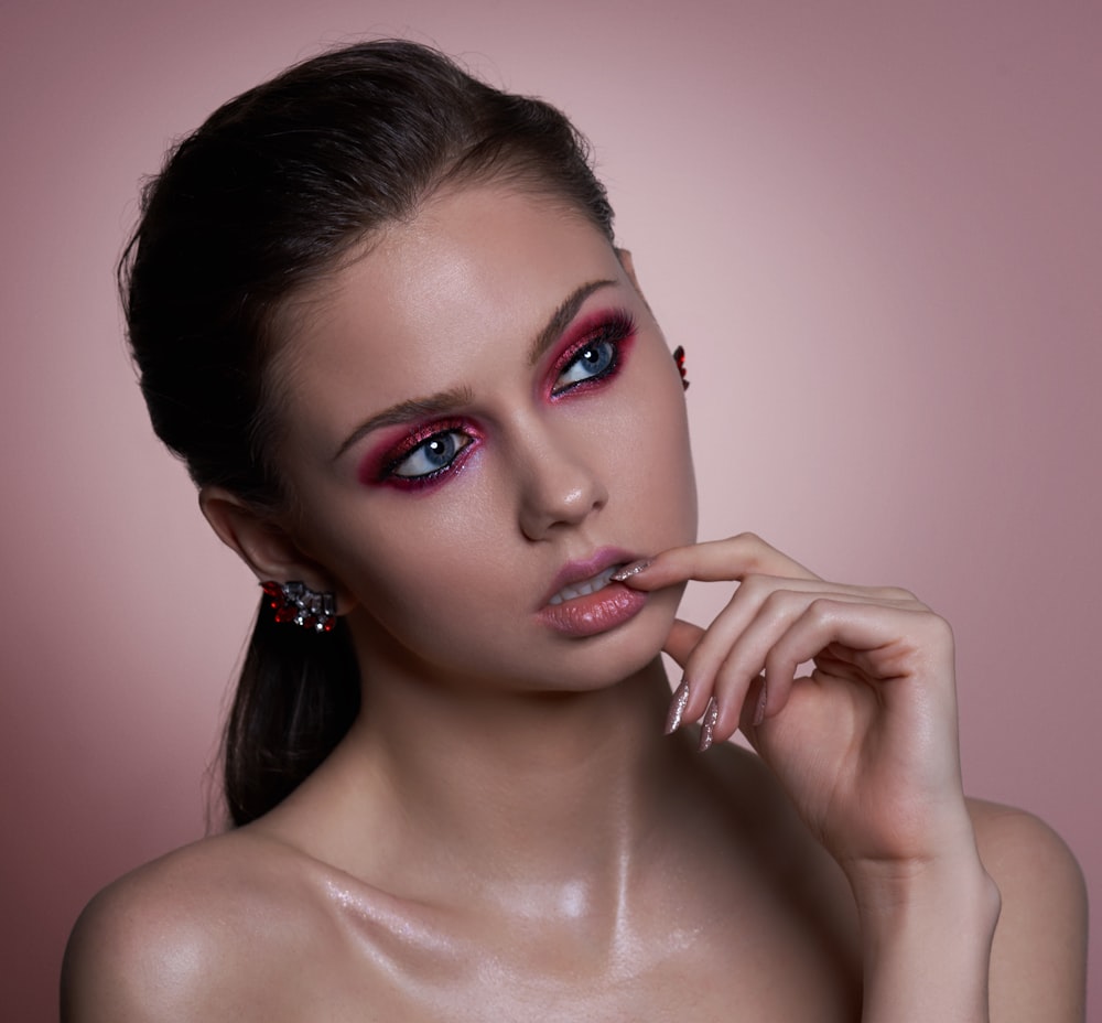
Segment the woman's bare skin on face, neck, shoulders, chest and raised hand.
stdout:
[[[634,341],[554,394],[561,337],[534,364],[532,340],[594,281],[572,323],[626,310]],[[91,903],[66,1020],[1082,1019],[1082,877],[965,800],[946,623],[757,537],[694,542],[681,381],[626,254],[471,186],[305,299],[278,364],[293,513],[202,500],[258,578],[337,593],[365,712],[276,810]],[[365,483],[393,428],[358,428],[444,390],[462,469]],[[642,610],[550,627],[562,567],[609,547],[649,561],[620,584]],[[674,617],[690,579],[737,584],[706,628]]]

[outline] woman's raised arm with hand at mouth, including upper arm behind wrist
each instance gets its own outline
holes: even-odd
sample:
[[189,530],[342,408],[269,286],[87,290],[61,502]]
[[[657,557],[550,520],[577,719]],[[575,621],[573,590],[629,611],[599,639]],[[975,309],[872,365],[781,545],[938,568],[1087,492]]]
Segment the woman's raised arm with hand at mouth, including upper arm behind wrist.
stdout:
[[[825,582],[749,535],[665,551],[625,582],[687,579],[739,586],[707,629],[678,622],[667,642],[685,672],[683,720],[703,719],[705,746],[741,728],[842,866],[863,1017],[1081,1019],[1082,969],[1062,957],[1082,947],[1081,890],[1063,880],[1076,871],[1036,828],[1008,855],[998,827],[973,825],[948,624],[906,591]],[[1061,966],[1042,977],[1038,957]],[[1038,1002],[1039,1016],[1022,1008]]]

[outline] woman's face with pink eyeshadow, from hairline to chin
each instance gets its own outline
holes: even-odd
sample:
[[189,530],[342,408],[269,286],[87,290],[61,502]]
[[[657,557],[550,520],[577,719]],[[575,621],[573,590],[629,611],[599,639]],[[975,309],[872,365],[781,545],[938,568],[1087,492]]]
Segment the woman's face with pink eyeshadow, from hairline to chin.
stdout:
[[576,690],[648,664],[680,591],[607,577],[692,542],[695,489],[680,375],[599,231],[450,191],[307,298],[277,368],[291,531],[367,677]]

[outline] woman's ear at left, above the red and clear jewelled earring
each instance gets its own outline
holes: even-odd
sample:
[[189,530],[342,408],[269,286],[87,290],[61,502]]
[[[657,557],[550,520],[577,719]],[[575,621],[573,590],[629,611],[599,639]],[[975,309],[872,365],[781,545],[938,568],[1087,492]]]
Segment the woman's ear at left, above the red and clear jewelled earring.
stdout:
[[299,580],[310,589],[337,594],[337,612],[348,610],[347,594],[316,561],[303,553],[290,534],[270,516],[218,486],[199,491],[199,508],[227,547],[256,573],[259,581]]

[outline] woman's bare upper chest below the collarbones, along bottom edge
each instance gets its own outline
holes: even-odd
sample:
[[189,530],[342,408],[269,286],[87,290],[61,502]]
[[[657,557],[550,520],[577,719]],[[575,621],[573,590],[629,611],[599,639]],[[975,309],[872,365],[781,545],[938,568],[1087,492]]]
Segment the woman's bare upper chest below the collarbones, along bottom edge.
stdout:
[[856,936],[844,920],[721,908],[696,927],[671,920],[601,943],[534,922],[344,935],[306,970],[290,1000],[301,1015],[288,1019],[315,1019],[315,999],[327,1019],[388,1023],[860,1017]]

